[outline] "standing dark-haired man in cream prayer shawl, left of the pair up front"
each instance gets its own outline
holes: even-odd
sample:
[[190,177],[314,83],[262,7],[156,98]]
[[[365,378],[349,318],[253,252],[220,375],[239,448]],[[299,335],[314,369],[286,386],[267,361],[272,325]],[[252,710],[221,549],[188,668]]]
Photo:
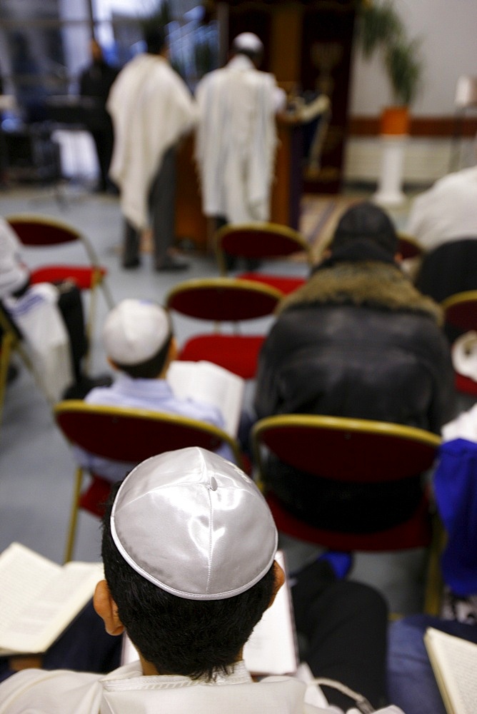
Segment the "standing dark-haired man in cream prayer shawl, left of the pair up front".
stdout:
[[147,51],[132,59],[111,87],[114,124],[110,175],[121,190],[125,219],[123,267],[139,266],[141,231],[151,228],[157,270],[185,268],[174,243],[176,145],[195,124],[196,107],[167,60],[164,31],[146,29]]

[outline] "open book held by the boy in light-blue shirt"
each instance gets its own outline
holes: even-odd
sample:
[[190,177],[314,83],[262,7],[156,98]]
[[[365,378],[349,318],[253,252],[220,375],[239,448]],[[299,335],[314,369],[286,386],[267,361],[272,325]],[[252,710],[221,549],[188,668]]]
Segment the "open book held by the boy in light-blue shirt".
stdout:
[[166,381],[176,397],[219,408],[225,421],[224,431],[237,436],[245,386],[241,377],[205,360],[174,360],[167,370]]

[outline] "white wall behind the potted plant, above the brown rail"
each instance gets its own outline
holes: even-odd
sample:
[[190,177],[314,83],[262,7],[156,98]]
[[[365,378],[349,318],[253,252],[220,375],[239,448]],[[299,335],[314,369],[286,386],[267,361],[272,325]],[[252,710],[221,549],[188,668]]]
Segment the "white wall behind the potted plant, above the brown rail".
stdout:
[[[394,0],[410,37],[422,38],[423,91],[412,107],[415,116],[453,114],[461,74],[477,76],[476,0]],[[354,51],[351,116],[376,116],[390,96],[378,61]]]

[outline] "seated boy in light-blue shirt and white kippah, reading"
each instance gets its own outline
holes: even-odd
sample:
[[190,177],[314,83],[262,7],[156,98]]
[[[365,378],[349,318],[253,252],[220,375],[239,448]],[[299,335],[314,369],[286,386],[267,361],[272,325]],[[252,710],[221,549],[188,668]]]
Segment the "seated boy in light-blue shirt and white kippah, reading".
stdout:
[[[121,301],[106,318],[103,343],[117,376],[111,386],[91,390],[86,402],[178,414],[224,428],[224,419],[215,406],[177,398],[167,383],[167,369],[176,358],[177,344],[164,308],[144,300]],[[119,481],[136,466],[93,456],[79,448],[75,453],[81,466],[109,481]],[[219,446],[218,453],[234,461],[228,444]]]

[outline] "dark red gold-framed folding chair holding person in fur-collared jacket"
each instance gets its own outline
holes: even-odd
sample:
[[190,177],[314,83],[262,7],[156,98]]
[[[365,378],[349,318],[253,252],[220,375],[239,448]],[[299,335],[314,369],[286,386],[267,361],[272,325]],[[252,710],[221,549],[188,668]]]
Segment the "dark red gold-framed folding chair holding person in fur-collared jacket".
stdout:
[[428,498],[404,523],[371,533],[315,528],[288,511],[268,485],[266,453],[306,471],[311,478],[353,483],[382,483],[415,476],[433,465],[441,438],[423,429],[366,419],[287,414],[261,419],[253,427],[258,478],[277,528],[333,550],[396,550],[428,545]]

